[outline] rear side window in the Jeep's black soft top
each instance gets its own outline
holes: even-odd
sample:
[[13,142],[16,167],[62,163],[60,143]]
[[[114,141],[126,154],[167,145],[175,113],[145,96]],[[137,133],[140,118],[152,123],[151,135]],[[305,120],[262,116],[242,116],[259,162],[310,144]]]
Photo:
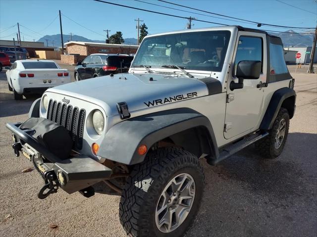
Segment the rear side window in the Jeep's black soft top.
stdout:
[[288,73],[281,45],[269,44],[270,75]]

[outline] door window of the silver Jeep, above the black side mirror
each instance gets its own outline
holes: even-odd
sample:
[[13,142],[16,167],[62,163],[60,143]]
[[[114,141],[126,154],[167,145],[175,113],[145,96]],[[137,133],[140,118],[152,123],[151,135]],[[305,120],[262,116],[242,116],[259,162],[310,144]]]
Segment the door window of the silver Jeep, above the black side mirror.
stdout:
[[[240,36],[236,58],[234,61],[234,74],[237,64],[243,60],[261,61],[263,62],[263,41],[258,37]],[[261,65],[261,70],[263,65]]]

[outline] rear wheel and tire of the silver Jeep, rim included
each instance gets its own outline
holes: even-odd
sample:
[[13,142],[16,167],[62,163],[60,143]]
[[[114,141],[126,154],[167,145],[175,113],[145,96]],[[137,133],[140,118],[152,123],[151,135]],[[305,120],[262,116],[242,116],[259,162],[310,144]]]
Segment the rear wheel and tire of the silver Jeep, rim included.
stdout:
[[289,115],[285,108],[281,108],[269,134],[258,142],[255,142],[259,153],[267,159],[278,157],[285,146],[289,129]]

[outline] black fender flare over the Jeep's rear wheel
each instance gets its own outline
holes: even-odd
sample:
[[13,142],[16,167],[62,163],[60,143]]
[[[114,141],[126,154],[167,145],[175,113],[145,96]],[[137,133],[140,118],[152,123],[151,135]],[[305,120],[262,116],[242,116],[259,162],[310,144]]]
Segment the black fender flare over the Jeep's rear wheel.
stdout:
[[281,107],[285,107],[288,110],[291,119],[295,113],[295,101],[296,93],[293,89],[284,87],[275,91],[265,111],[260,129],[269,130],[272,128]]

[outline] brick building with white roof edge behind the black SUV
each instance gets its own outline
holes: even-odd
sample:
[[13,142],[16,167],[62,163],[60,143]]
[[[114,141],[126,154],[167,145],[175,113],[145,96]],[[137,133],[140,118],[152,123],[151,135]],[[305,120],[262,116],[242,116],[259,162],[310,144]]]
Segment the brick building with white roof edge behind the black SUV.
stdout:
[[61,55],[61,62],[76,64],[92,53],[136,53],[139,46],[136,45],[116,45],[105,43],[70,41],[64,44],[66,54]]

